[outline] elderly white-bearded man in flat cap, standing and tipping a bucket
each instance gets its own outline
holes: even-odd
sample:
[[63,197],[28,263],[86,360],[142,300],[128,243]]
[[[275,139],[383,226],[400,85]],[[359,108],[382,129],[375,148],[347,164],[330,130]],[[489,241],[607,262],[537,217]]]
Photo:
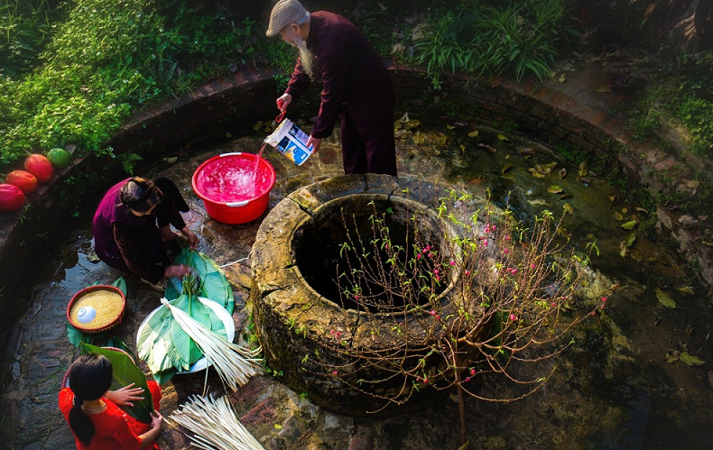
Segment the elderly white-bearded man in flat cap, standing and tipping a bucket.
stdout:
[[277,107],[284,111],[321,79],[321,105],[308,145],[341,122],[344,172],[396,175],[394,88],[384,62],[354,23],[325,11],[307,12],[297,0],[280,0],[270,14],[268,37],[280,34],[300,58]]

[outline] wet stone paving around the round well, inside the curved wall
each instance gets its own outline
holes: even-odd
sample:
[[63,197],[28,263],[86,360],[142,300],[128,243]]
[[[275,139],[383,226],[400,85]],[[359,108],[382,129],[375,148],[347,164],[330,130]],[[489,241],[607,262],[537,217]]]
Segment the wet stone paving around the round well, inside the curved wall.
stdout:
[[[418,119],[412,117],[412,119]],[[412,123],[413,126],[415,125]],[[305,128],[309,129],[309,126]],[[576,167],[559,161],[543,178],[528,169],[536,162],[556,161],[532,142],[499,138],[476,124],[454,124],[429,119],[403,133],[398,143],[399,170],[482,194],[491,188],[495,199],[506,199],[523,216],[542,208],[559,214],[572,209],[565,226],[572,242],[584,245],[597,238],[592,280],[596,289],[612,291],[607,308],[574,331],[575,344],[542,372],[554,365],[551,381],[531,397],[514,403],[468,400],[468,436],[471,449],[671,449],[713,448],[713,350],[709,335],[710,302],[703,289],[662,243],[637,234],[625,257],[620,244],[630,232],[621,228],[636,205],[625,204],[622,193],[597,174],[583,182]],[[474,133],[474,132],[478,133]],[[199,251],[225,265],[236,293],[234,320],[244,330],[249,317],[249,255],[261,219],[247,225],[223,225],[210,219],[190,188],[190,178],[202,161],[223,152],[257,152],[266,135],[227,139],[210,148],[193,150],[178,161],[162,161],[140,173],[169,176],[189,200],[185,215],[199,234]],[[505,136],[503,136],[505,137]],[[273,164],[277,182],[270,196],[274,207],[296,188],[342,173],[337,133],[323,142],[320,152],[296,167],[277,152],[264,157]],[[483,145],[479,145],[483,144]],[[523,152],[523,149],[532,149]],[[171,155],[168,155],[171,156]],[[169,160],[170,161],[170,160]],[[568,175],[557,175],[561,168]],[[564,193],[551,193],[553,185]],[[108,186],[107,186],[108,187]],[[557,189],[555,189],[557,190]],[[652,214],[653,212],[648,212]],[[636,214],[644,215],[637,211]],[[2,446],[12,450],[71,449],[69,427],[57,409],[60,381],[77,352],[67,340],[65,308],[79,289],[99,281],[111,283],[120,275],[93,262],[89,223],[73,230],[56,254],[38,262],[31,298],[18,320],[6,349],[2,375],[0,423]],[[159,305],[160,294],[126,275],[128,309],[121,326],[110,332],[134,348],[136,328]],[[656,288],[665,289],[679,308],[664,308]],[[687,288],[677,290],[676,288]],[[595,290],[594,284],[591,286]],[[689,295],[683,291],[692,291]],[[237,333],[245,340],[245,334]],[[681,363],[676,352],[688,352],[706,363]],[[669,356],[669,361],[665,357]],[[523,368],[523,371],[526,369]],[[176,376],[162,387],[162,413],[201,393],[206,373]],[[509,397],[518,390],[499,380],[482,380],[484,395]],[[208,372],[208,390],[220,394],[214,371]],[[348,418],[319,409],[309,395],[287,389],[270,374],[255,376],[230,399],[238,417],[268,450],[450,450],[459,447],[458,409],[453,397],[418,414],[393,418]],[[188,448],[181,430],[167,421],[159,438],[162,448]]]

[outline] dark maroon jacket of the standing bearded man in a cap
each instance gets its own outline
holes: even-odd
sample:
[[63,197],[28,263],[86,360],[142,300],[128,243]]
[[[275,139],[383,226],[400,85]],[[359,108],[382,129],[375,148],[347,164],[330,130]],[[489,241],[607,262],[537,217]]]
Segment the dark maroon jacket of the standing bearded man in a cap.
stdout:
[[[322,81],[321,106],[312,129],[313,137],[322,139],[332,133],[342,105],[364,112],[373,107],[394,107],[394,88],[384,61],[354,23],[326,11],[311,13],[306,43]],[[298,60],[285,93],[294,101],[309,85],[310,78]]]

